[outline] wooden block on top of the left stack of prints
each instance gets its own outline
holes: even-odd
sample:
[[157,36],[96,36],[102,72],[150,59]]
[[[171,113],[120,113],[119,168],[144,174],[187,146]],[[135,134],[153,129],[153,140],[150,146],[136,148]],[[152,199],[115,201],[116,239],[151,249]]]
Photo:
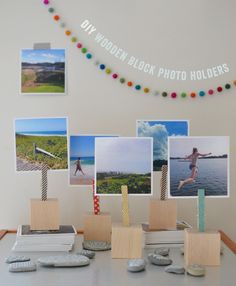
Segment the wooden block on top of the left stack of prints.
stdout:
[[30,201],[30,229],[58,230],[59,202],[57,199],[31,199]]

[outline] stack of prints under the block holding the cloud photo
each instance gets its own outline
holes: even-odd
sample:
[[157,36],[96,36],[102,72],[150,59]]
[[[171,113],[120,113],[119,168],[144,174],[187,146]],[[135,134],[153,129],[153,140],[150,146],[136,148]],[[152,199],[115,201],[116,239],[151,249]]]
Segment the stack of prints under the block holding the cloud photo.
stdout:
[[144,247],[181,246],[184,243],[184,229],[191,228],[185,221],[177,221],[176,229],[150,230],[148,224],[142,224]]

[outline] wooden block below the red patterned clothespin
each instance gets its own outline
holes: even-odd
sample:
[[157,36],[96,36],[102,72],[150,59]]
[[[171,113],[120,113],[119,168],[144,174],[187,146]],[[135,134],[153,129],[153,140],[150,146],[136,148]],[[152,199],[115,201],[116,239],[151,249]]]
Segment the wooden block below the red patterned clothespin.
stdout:
[[84,216],[84,240],[111,242],[111,215],[88,213]]

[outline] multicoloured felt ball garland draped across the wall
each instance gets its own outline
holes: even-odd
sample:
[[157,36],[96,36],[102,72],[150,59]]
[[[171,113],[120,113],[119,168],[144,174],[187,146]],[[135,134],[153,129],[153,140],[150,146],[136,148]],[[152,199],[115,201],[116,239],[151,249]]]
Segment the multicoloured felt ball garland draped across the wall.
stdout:
[[[92,55],[84,45],[79,42],[78,38],[73,36],[71,30],[67,29],[66,24],[62,21],[61,16],[56,14],[55,8],[51,6],[49,0],[43,0],[43,4],[48,7],[48,12],[53,15],[54,21],[58,22],[60,24],[60,27],[65,29],[65,35],[70,38],[70,41],[76,45],[78,49],[81,50],[81,53],[85,55],[85,57],[88,60],[91,60],[94,58],[94,55]],[[110,75],[114,80],[119,80],[121,84],[126,84],[127,87],[133,88],[133,90],[136,91],[143,91],[145,94],[152,93],[153,95],[161,95],[162,97],[170,97],[172,99],[176,99],[178,97],[180,98],[196,98],[196,97],[204,97],[206,95],[214,95],[214,94],[220,94],[224,90],[229,90],[233,85],[236,86],[236,80],[234,80],[232,83],[226,83],[222,86],[218,86],[217,88],[211,88],[207,91],[205,90],[200,90],[197,92],[180,92],[177,93],[175,91],[168,92],[168,91],[158,91],[154,90],[151,91],[149,87],[143,87],[139,83],[135,83],[131,80],[127,80],[125,77],[122,77],[119,75],[117,72],[113,72],[110,67],[107,67],[104,63],[100,63],[98,60],[94,60],[94,64],[101,70],[104,71],[107,75]]]

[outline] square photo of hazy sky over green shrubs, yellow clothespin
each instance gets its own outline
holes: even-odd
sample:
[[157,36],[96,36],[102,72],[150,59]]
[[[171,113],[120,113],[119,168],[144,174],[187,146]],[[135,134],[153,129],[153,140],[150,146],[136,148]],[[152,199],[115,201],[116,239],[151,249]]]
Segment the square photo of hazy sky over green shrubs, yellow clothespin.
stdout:
[[119,195],[121,186],[133,195],[152,194],[152,138],[96,138],[95,189],[98,195]]

